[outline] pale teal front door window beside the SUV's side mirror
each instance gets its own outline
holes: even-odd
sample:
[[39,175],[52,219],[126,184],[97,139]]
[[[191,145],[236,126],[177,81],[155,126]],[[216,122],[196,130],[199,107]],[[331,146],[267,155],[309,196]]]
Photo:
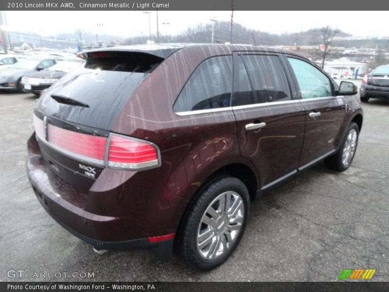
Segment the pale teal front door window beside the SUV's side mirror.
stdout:
[[299,83],[301,98],[318,98],[332,96],[330,79],[308,62],[288,58]]

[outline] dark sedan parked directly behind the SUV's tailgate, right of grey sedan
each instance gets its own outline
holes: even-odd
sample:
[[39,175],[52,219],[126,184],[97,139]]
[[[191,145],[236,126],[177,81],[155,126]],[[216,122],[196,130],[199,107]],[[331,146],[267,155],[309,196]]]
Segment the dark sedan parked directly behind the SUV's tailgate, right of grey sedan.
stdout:
[[24,92],[31,92],[39,95],[45,89],[48,89],[59,78],[71,72],[71,70],[80,66],[84,61],[82,59],[64,60],[52,67],[21,78],[21,84]]

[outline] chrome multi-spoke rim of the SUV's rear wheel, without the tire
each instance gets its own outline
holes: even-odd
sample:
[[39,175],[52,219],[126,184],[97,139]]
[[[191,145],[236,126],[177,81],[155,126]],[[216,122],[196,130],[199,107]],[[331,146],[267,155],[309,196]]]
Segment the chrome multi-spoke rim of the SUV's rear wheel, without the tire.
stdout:
[[224,192],[207,207],[197,229],[197,251],[214,259],[230,250],[242,230],[245,206],[236,192]]

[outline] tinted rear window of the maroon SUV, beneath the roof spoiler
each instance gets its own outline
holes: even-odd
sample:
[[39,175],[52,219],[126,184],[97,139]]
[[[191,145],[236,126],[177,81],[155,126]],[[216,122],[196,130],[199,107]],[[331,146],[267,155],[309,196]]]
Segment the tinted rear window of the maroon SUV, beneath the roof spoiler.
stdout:
[[[84,66],[66,74],[42,96],[38,110],[77,124],[110,130],[132,93],[162,61],[144,53],[93,53]],[[51,95],[88,107],[60,103]]]

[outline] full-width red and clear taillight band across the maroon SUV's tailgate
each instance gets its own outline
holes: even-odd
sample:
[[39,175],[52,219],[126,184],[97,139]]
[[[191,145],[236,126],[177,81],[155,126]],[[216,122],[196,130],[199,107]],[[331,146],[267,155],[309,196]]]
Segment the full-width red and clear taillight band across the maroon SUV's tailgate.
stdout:
[[109,138],[79,133],[47,123],[34,115],[40,141],[64,155],[90,164],[139,170],[160,165],[158,147],[145,140],[111,133]]

